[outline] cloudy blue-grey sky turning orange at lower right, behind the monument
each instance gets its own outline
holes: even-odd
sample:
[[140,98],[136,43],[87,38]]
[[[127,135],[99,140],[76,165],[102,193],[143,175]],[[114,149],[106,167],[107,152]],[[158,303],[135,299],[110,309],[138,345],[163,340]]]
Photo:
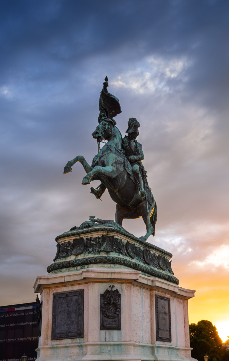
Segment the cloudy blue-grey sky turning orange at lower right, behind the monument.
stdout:
[[[227,0],[0,1],[0,305],[35,300],[57,235],[114,219],[108,192],[100,202],[81,185],[81,164],[63,174],[97,152],[107,75],[122,135],[128,118],[141,124],[158,205],[148,241],[196,290],[190,322],[229,328],[228,13]],[[145,232],[142,219],[123,226]]]

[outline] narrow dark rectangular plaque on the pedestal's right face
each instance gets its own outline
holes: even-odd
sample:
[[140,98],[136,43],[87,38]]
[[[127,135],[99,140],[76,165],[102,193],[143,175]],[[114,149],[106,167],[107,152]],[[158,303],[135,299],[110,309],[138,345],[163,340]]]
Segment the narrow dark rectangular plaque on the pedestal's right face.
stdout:
[[170,298],[156,297],[156,340],[171,342]]

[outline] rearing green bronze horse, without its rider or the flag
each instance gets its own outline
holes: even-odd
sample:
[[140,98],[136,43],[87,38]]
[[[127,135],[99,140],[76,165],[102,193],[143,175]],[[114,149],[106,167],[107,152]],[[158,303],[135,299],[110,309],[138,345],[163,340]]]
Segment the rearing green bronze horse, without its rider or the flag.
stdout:
[[157,206],[151,189],[146,184],[147,199],[142,200],[131,165],[122,150],[122,135],[111,119],[103,120],[92,136],[98,142],[103,139],[107,140],[107,143],[94,157],[92,165],[90,166],[83,156],[78,155],[68,161],[64,168],[64,174],[69,173],[71,167],[80,162],[87,173],[82,184],[89,184],[91,180],[101,180],[107,187],[112,200],[117,203],[115,222],[121,226],[124,218],[142,217],[147,233],[140,238],[146,241],[151,234],[154,236],[157,220]]

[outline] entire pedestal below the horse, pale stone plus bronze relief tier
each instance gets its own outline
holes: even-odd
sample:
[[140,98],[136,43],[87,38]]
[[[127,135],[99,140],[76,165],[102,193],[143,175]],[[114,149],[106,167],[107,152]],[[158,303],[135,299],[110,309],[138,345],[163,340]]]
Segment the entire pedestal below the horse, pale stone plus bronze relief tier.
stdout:
[[[194,291],[178,286],[171,254],[123,233],[91,229],[88,237],[74,230],[57,237],[55,263],[34,285],[42,302],[39,361],[191,359],[187,301]],[[61,332],[65,338],[55,339]]]

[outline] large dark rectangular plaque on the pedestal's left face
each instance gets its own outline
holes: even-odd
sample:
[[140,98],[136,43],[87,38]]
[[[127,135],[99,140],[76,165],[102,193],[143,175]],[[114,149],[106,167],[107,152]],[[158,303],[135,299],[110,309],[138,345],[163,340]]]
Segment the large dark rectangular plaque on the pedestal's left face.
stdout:
[[51,339],[82,338],[84,289],[53,293]]

